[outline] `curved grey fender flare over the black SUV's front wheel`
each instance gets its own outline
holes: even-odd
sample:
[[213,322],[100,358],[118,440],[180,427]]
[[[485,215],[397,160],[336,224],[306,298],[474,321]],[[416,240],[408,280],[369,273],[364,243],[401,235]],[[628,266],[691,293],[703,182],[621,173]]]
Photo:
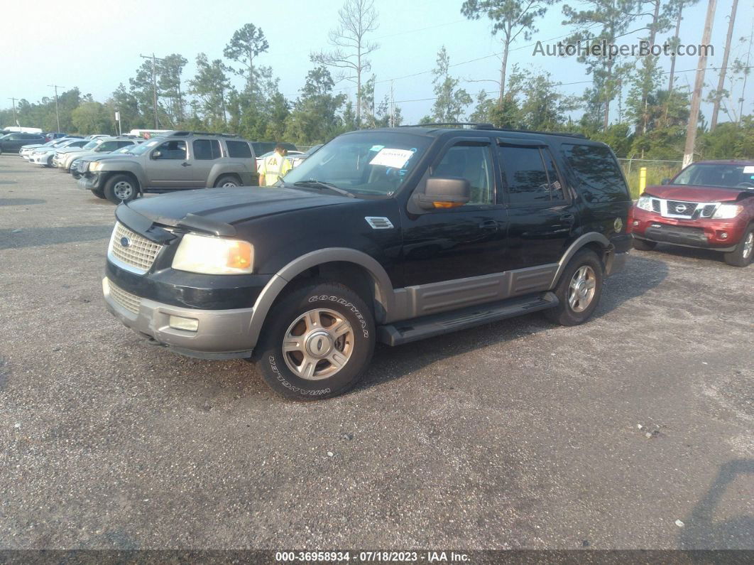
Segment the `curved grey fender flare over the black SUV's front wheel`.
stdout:
[[323,263],[353,263],[366,270],[372,278],[375,290],[375,300],[379,302],[386,313],[394,309],[394,292],[388,273],[374,257],[348,247],[328,247],[305,253],[280,269],[259,293],[254,302],[253,315],[250,321],[249,334],[252,339],[252,345],[256,345],[259,339],[259,333],[262,332],[262,325],[272,307],[277,296],[283,291],[293,278],[305,272],[307,269],[322,265]]

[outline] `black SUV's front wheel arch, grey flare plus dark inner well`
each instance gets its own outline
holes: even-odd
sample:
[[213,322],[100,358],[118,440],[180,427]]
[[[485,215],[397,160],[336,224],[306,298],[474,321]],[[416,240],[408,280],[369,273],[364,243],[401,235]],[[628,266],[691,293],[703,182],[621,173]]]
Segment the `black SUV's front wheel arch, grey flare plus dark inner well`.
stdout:
[[[348,272],[351,275],[360,274],[369,285],[372,302],[375,306],[375,321],[384,322],[388,313],[394,309],[394,293],[388,273],[372,256],[348,247],[330,247],[311,251],[293,259],[280,269],[265,285],[254,303],[254,313],[251,319],[250,336],[256,345],[259,333],[267,318],[268,312],[278,296],[284,290],[305,278],[312,272],[333,274]],[[354,289],[358,290],[358,289]],[[367,298],[366,296],[364,297]]]

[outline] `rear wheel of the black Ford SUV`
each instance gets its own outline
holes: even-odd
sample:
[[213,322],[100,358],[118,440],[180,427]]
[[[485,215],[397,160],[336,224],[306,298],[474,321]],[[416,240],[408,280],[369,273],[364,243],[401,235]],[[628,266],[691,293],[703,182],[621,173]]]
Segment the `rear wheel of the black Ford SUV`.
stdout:
[[550,321],[561,326],[583,324],[593,314],[602,296],[602,263],[591,250],[575,254],[555,288],[559,304],[544,311]]

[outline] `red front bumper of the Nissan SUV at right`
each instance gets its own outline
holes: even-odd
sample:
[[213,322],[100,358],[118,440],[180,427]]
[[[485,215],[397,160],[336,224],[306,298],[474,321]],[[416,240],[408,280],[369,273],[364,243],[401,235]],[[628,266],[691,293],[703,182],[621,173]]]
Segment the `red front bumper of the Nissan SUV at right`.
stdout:
[[697,247],[717,251],[734,250],[746,228],[746,222],[733,220],[679,220],[634,206],[629,218],[634,238],[668,243],[682,247]]

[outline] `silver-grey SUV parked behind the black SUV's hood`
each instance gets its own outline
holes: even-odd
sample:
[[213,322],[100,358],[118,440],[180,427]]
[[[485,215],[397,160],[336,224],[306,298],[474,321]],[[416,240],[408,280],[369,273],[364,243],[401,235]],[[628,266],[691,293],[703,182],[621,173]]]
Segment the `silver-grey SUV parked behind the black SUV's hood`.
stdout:
[[251,143],[241,137],[170,131],[113,158],[90,163],[78,180],[114,204],[143,192],[258,186]]

